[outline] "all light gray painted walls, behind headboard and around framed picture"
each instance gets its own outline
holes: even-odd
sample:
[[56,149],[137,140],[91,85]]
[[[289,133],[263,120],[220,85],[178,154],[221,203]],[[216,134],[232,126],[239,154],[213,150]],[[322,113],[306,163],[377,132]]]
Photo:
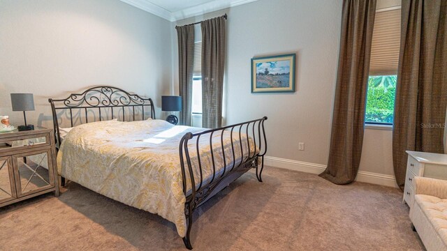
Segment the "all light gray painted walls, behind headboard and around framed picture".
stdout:
[[[379,1],[386,8],[400,0]],[[154,98],[178,93],[175,25],[228,13],[226,124],[268,116],[268,155],[325,165],[342,0],[260,0],[170,23],[118,0],[0,1],[0,115],[9,93],[34,93],[35,125],[51,125],[48,97],[107,84]],[[250,59],[297,54],[296,92],[251,94]],[[360,170],[393,175],[391,130],[365,130]],[[305,142],[305,151],[298,151]]]

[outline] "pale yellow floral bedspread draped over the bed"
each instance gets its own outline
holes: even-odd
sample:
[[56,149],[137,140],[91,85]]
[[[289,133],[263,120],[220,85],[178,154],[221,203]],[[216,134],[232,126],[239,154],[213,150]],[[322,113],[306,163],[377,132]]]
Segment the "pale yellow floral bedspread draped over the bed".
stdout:
[[[101,121],[76,126],[66,135],[57,155],[58,172],[68,180],[129,206],[140,208],[175,223],[179,236],[186,234],[185,196],[179,163],[179,142],[186,132],[203,128],[173,126],[148,119],[146,121]],[[217,175],[223,172],[221,133],[213,135],[213,153]],[[239,134],[233,132],[235,157],[230,132],[223,134],[226,172],[241,161]],[[242,156],[251,155],[254,144],[242,134]],[[189,142],[196,187],[200,183],[196,138]],[[200,138],[200,161],[203,180],[212,178],[210,136]],[[256,149],[258,150],[258,149]],[[186,163],[185,163],[186,166]],[[186,174],[188,176],[189,173]],[[189,180],[189,179],[188,179]],[[191,184],[187,190],[191,190]]]

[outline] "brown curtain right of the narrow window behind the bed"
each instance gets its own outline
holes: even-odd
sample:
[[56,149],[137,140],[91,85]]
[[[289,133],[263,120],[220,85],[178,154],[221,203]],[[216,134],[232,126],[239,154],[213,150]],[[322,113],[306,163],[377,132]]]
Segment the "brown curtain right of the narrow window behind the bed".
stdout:
[[225,18],[200,22],[202,28],[202,126],[222,126]]

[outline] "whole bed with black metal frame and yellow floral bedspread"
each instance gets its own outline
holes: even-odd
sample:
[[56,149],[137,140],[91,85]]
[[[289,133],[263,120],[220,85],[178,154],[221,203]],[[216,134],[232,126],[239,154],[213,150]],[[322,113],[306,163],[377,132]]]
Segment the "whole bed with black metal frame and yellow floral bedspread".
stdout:
[[188,249],[198,206],[251,168],[262,182],[267,117],[217,129],[173,126],[155,119],[152,99],[112,86],[48,101],[62,179],[161,215]]

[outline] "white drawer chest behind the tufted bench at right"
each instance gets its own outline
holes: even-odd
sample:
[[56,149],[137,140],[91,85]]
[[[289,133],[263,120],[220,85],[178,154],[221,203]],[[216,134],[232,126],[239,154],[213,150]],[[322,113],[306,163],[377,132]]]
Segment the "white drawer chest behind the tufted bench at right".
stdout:
[[406,151],[406,153],[408,153],[408,161],[403,201],[411,207],[414,201],[414,177],[424,176],[447,180],[447,155],[416,151]]

